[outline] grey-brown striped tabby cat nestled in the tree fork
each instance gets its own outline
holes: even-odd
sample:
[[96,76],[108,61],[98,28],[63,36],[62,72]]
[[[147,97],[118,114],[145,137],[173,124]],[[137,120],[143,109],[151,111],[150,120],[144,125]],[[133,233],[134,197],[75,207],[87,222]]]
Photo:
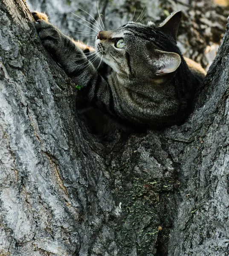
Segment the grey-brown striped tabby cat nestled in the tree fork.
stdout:
[[[181,12],[159,26],[131,21],[99,31],[95,48],[64,35],[45,14],[32,15],[43,46],[82,87],[79,101],[122,125],[160,129],[185,121],[206,72],[177,47]],[[88,62],[93,52],[102,57],[99,68]]]

